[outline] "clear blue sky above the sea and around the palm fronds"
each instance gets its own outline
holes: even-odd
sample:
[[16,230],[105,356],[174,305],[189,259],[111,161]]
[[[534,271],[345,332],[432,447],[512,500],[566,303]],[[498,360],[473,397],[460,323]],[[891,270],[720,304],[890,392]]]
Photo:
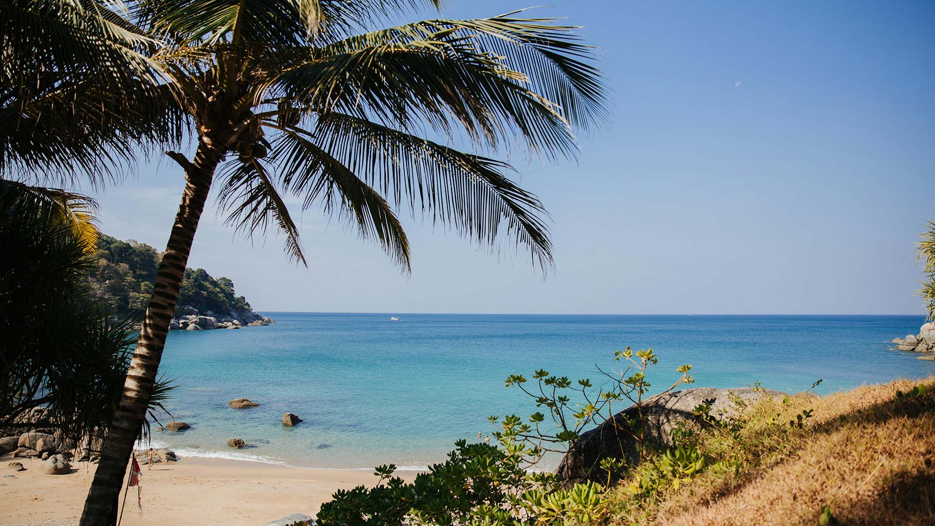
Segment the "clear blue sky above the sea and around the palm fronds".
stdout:
[[[309,268],[202,219],[190,266],[267,311],[921,314],[935,220],[935,4],[583,2],[537,9],[602,49],[613,125],[578,163],[520,163],[552,213],[556,270],[406,221],[412,275],[317,210]],[[483,17],[519,1],[453,0]],[[436,16],[430,12],[427,16]],[[162,249],[173,162],[99,197],[102,226]]]

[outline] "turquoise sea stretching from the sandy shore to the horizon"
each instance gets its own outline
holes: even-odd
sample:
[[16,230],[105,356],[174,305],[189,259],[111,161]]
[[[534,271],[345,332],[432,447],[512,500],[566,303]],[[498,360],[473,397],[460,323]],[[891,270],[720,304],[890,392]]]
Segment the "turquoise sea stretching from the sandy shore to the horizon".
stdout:
[[[189,431],[155,432],[181,456],[297,467],[418,468],[455,440],[493,431],[487,416],[536,409],[510,373],[597,380],[626,345],[659,354],[654,386],[691,363],[694,387],[760,382],[819,393],[935,373],[935,362],[889,351],[922,316],[488,315],[264,313],[278,323],[172,331],[162,370],[180,386],[167,408]],[[246,397],[260,407],[230,409]],[[304,421],[281,425],[289,411]],[[234,450],[229,438],[252,447]]]

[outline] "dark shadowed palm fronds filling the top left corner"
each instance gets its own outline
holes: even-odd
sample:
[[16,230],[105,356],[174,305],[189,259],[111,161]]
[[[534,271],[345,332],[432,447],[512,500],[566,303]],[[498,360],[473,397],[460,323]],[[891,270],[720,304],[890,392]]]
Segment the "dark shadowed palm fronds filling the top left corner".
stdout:
[[184,114],[156,41],[94,0],[0,2],[0,173],[39,183],[117,179]]

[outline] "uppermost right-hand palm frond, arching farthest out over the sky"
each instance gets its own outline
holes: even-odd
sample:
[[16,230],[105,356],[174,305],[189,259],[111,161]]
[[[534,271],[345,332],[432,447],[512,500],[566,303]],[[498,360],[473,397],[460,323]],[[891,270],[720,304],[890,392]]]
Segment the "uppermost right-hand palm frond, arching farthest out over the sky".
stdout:
[[606,121],[607,95],[593,49],[553,22],[434,20],[345,38],[309,49],[270,80],[272,93],[317,113],[463,129],[492,148],[520,137],[529,152],[573,156],[573,127]]

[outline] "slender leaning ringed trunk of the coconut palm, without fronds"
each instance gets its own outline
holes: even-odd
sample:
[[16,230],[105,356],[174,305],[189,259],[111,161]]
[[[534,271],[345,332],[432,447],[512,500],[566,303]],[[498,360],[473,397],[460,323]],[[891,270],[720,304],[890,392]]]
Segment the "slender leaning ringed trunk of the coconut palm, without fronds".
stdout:
[[101,460],[84,502],[81,526],[116,523],[123,475],[126,473],[134,442],[146,416],[159,360],[163,356],[165,335],[168,333],[176,300],[179,299],[194,232],[205,208],[214,169],[221,162],[223,151],[212,146],[210,142],[201,141],[194,162],[189,162],[180,153],[170,152],[168,155],[185,168],[185,190],[181,195],[179,213],[176,215],[175,225],[172,226],[165,255],[159,264],[156,283],[152,287],[152,298],[146,308],[143,327],[139,331],[137,349],[130,361],[120,404],[104,439]]

